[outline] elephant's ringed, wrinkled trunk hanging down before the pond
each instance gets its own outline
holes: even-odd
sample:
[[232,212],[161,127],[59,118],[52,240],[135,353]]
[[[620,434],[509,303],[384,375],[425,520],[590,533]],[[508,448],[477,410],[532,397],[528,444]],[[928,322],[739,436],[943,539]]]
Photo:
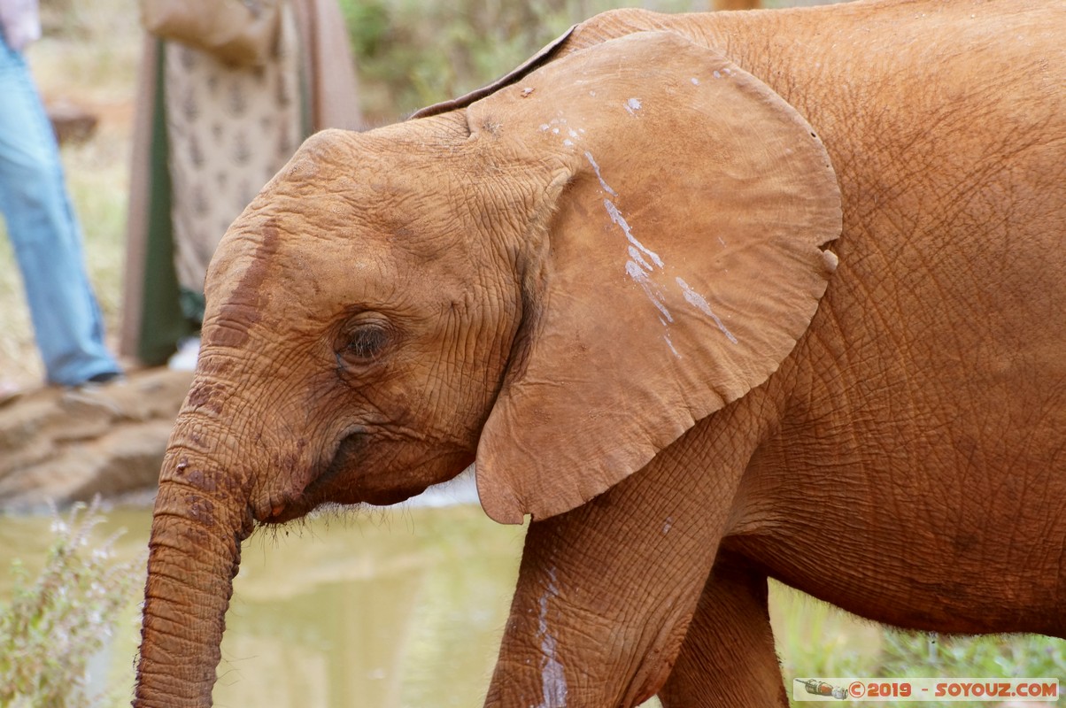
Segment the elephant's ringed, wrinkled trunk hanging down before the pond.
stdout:
[[190,422],[179,419],[160,474],[135,708],[211,705],[241,542],[253,529],[246,490],[183,444]]

